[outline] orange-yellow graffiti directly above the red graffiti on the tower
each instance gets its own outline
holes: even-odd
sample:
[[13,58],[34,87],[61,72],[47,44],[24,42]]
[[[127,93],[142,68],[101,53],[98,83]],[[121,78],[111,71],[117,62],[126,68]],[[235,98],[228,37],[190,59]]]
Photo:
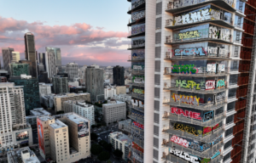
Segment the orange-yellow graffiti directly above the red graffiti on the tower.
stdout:
[[183,104],[199,105],[199,99],[196,96],[185,96],[181,94],[172,94],[172,98],[175,102],[181,102]]

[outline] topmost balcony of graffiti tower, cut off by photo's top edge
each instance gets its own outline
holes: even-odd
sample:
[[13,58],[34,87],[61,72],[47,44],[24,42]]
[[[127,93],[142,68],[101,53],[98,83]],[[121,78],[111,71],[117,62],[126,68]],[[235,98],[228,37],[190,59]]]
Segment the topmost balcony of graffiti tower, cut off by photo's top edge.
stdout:
[[191,8],[200,7],[207,3],[213,3],[218,5],[221,8],[225,8],[229,10],[230,12],[236,12],[236,8],[232,7],[234,3],[227,3],[227,2],[228,2],[227,0],[206,0],[204,2],[202,2],[201,0],[188,0],[186,1],[187,5],[183,5],[183,6],[180,4],[177,4],[176,6],[174,6],[172,2],[169,2],[167,3],[166,12],[168,13],[182,12],[184,10],[189,10]]

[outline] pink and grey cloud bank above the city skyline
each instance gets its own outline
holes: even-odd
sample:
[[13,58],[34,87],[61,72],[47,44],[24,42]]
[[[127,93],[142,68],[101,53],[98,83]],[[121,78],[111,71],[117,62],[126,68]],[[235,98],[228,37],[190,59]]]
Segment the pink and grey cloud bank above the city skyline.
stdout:
[[71,61],[81,65],[130,65],[126,61],[130,53],[127,44],[131,43],[126,38],[127,32],[104,31],[104,27],[94,28],[86,23],[52,26],[44,23],[0,16],[0,47],[24,53],[24,34],[30,31],[38,52],[44,52],[45,47],[61,48],[62,65]]

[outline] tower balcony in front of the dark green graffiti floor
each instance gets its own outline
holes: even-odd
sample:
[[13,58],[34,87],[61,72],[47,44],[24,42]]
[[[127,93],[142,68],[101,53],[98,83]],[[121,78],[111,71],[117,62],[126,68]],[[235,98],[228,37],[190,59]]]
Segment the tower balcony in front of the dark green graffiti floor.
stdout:
[[[194,72],[195,71],[195,72]],[[193,76],[193,77],[213,77],[213,76],[226,76],[230,73],[230,68],[225,68],[222,72],[207,72],[207,66],[201,66],[201,67],[189,67],[186,68],[186,71],[181,70],[181,68],[178,67],[178,70],[174,71],[174,66],[171,67],[165,67],[164,75],[170,75],[170,76]]]

